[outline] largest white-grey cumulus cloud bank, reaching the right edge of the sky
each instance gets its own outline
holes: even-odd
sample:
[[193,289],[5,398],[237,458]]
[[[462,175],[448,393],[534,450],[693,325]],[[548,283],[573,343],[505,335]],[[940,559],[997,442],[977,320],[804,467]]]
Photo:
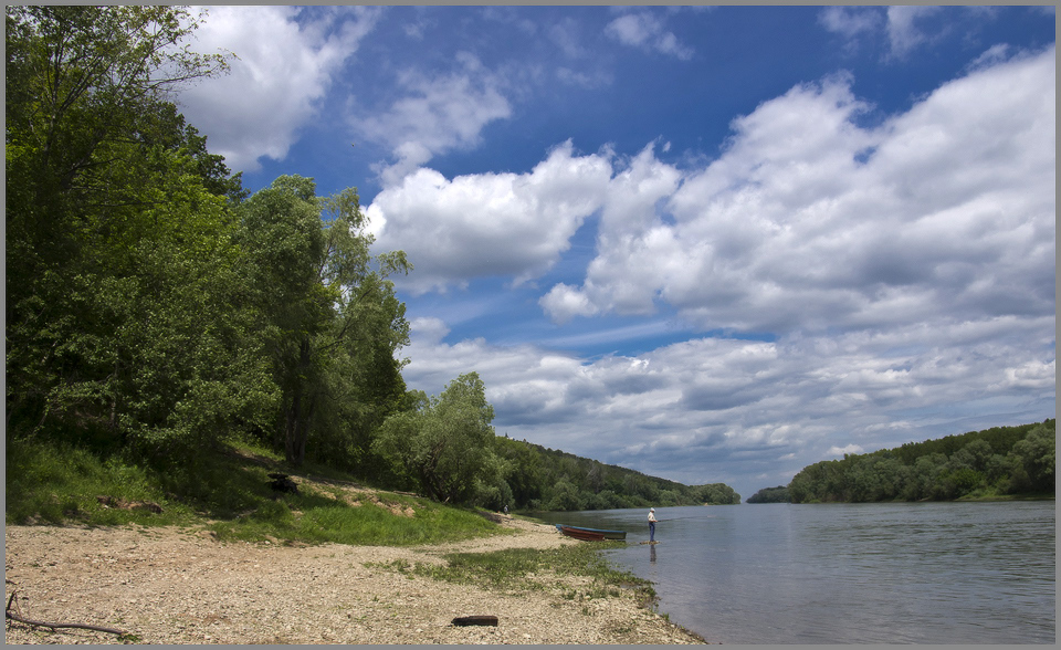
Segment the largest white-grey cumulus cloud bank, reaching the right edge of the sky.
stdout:
[[560,322],[663,301],[775,333],[1051,314],[1054,76],[1052,49],[978,69],[873,128],[850,78],[797,86],[680,185],[642,161],[655,209],[606,210],[585,282],[543,306]]

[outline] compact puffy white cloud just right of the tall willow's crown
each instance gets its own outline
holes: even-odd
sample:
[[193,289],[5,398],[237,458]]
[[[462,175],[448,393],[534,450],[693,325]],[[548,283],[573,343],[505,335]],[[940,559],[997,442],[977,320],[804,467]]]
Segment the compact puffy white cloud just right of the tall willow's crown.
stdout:
[[582,221],[603,203],[609,156],[555,148],[528,174],[452,180],[418,169],[378,193],[366,214],[378,244],[403,250],[416,270],[402,286],[422,293],[472,277],[523,283],[548,270]]

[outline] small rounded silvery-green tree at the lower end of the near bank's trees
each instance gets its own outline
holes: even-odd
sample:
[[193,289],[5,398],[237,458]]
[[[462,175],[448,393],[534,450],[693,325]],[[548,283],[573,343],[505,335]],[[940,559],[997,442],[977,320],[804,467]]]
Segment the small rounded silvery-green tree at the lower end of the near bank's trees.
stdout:
[[374,442],[424,495],[466,503],[476,481],[495,483],[501,469],[493,451],[494,409],[476,373],[461,375],[438,397],[421,394],[417,408],[391,416]]

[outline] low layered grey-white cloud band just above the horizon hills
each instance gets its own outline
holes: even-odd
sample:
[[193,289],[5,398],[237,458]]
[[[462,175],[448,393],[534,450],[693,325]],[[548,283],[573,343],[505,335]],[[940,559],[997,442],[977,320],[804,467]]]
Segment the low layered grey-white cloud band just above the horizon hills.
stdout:
[[474,370],[498,434],[690,484],[727,482],[744,496],[822,458],[954,433],[971,407],[1013,421],[1052,415],[1051,316],[694,338],[602,358],[482,338],[445,344],[440,328],[414,324],[410,387],[438,394]]

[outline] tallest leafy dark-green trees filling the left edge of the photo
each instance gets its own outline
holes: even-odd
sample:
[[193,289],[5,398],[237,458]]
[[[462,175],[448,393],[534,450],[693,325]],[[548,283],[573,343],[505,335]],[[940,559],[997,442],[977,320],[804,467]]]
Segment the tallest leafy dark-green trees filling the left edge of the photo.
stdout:
[[167,101],[223,59],[181,45],[179,8],[6,20],[8,423],[202,443],[253,419],[239,178]]

